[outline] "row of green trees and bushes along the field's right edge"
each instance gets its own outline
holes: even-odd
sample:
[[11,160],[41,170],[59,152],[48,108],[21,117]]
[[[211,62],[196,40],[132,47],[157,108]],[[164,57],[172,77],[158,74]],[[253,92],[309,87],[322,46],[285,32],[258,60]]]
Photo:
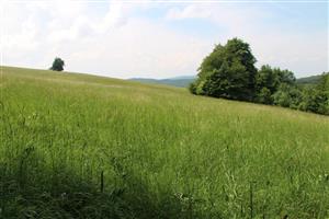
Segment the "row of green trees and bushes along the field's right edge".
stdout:
[[318,84],[300,85],[292,71],[254,67],[249,44],[232,38],[216,45],[198,68],[190,91],[197,95],[279,105],[329,115],[329,73]]

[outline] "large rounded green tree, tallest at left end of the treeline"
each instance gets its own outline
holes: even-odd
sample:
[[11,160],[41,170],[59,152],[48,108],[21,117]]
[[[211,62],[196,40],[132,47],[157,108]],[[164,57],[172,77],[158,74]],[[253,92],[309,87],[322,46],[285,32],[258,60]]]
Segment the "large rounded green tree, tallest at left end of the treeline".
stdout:
[[251,101],[254,95],[253,57],[249,44],[232,38],[225,46],[216,45],[198,68],[192,93]]

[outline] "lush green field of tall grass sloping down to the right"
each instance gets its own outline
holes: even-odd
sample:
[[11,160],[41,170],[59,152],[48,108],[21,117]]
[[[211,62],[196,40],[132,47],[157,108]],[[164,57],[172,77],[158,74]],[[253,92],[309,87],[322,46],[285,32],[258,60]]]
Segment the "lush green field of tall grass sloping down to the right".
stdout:
[[2,67],[0,218],[328,218],[329,117]]

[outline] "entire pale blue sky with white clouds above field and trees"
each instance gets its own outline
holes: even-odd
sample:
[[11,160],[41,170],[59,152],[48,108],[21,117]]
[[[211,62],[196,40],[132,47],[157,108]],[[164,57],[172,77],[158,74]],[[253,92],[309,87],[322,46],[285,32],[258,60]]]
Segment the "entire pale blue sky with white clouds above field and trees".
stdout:
[[329,71],[328,2],[298,0],[0,0],[1,65],[112,78],[193,76],[214,45],[239,37],[257,67],[297,78]]

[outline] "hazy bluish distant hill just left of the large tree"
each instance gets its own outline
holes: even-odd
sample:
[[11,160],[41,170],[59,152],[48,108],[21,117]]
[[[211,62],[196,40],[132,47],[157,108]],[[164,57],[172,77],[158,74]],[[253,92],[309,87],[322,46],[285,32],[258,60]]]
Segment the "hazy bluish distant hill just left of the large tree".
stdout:
[[143,83],[158,83],[166,85],[173,85],[179,88],[188,88],[190,83],[195,80],[194,76],[183,76],[168,79],[148,79],[148,78],[133,78],[128,79],[131,81],[139,81]]

